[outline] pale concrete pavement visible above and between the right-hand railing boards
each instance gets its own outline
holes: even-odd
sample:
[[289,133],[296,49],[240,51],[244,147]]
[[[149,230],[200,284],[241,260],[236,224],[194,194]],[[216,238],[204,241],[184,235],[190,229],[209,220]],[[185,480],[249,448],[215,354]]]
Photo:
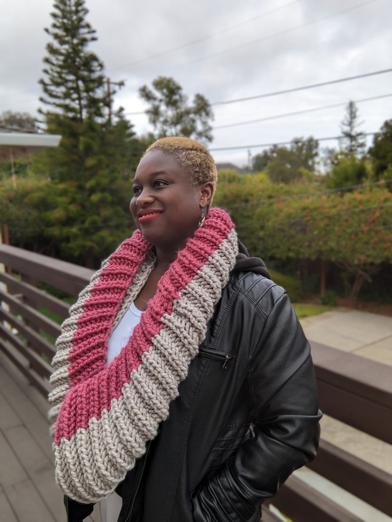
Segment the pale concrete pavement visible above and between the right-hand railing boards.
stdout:
[[[301,319],[300,322],[310,341],[392,366],[392,317],[338,308]],[[390,444],[326,415],[321,421],[321,429],[322,437],[331,444],[392,473]],[[307,468],[302,468],[295,474],[365,522],[392,520]]]

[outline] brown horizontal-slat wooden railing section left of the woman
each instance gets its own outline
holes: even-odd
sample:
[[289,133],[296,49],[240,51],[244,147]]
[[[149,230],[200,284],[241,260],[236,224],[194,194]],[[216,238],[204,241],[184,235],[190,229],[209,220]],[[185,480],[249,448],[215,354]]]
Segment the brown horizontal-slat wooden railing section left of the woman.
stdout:
[[13,275],[0,271],[0,348],[47,396],[52,372],[50,361],[60,325],[39,312],[46,308],[58,316],[68,315],[69,305],[36,287],[37,282],[77,296],[89,282],[92,270],[64,261],[0,244],[0,263]]

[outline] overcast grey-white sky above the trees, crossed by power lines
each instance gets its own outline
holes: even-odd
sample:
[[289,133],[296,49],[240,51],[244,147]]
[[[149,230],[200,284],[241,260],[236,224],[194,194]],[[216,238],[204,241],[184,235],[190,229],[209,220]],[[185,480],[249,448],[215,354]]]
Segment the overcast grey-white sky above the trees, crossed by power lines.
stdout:
[[[52,0],[2,2],[0,112],[37,115]],[[87,0],[97,31],[91,45],[112,81],[125,80],[115,106],[145,110],[141,85],[172,76],[192,100],[254,97],[392,68],[391,0]],[[216,127],[317,109],[213,130],[217,162],[243,166],[248,146],[294,137],[338,136],[349,100],[358,102],[361,129],[379,131],[392,118],[392,72],[267,98],[213,106]],[[384,97],[372,101],[367,98]],[[129,114],[138,135],[152,131],[145,114]],[[368,143],[371,143],[369,138]],[[321,141],[320,147],[336,146]],[[244,149],[214,150],[245,146]],[[251,147],[251,155],[262,151]]]

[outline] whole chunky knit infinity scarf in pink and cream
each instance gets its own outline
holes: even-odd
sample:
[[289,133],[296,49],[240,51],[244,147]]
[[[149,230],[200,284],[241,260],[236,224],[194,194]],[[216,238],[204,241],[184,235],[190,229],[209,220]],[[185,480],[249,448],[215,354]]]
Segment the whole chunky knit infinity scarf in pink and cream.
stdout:
[[151,245],[137,230],[80,293],[56,342],[49,396],[56,481],[66,495],[102,500],[144,454],[206,335],[236,254],[233,223],[211,209],[107,367],[111,331],[155,266]]

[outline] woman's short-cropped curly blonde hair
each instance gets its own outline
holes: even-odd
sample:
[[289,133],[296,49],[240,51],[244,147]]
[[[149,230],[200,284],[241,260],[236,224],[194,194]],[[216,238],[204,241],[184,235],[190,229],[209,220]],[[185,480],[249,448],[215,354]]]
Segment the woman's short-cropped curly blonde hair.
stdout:
[[154,150],[172,156],[189,174],[191,185],[197,186],[209,181],[215,191],[218,181],[217,168],[212,156],[201,143],[191,138],[167,136],[150,145],[142,158]]

